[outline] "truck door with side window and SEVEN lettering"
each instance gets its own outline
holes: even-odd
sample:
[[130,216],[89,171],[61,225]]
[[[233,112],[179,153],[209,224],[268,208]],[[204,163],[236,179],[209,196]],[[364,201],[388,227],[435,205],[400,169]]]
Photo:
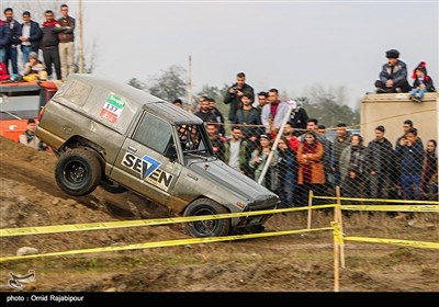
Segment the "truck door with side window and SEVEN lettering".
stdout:
[[125,139],[110,177],[151,201],[166,204],[181,171],[171,152],[173,144],[171,125],[144,112],[132,137]]

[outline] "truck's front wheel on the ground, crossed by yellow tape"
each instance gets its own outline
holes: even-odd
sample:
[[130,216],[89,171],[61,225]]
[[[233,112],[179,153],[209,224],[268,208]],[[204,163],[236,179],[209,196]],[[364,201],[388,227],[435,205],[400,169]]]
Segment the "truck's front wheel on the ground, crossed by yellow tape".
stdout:
[[[184,216],[225,214],[227,209],[209,198],[200,198],[194,201],[184,211]],[[194,238],[203,237],[222,237],[227,236],[230,231],[230,219],[210,219],[199,220],[185,224],[185,229],[190,236]]]

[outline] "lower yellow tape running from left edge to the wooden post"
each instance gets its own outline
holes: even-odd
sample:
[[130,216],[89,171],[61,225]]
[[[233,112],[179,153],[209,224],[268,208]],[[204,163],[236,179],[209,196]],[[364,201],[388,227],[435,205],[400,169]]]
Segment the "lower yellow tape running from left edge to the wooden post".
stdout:
[[3,258],[0,258],[0,262],[12,261],[12,260],[22,260],[22,259],[42,258],[42,257],[53,257],[53,255],[68,255],[68,254],[78,254],[78,253],[93,253],[93,252],[105,252],[105,251],[121,251],[121,250],[173,247],[173,246],[183,246],[183,245],[212,243],[212,242],[221,242],[221,241],[243,240],[243,239],[273,237],[273,236],[285,236],[285,235],[331,230],[331,229],[333,228],[330,228],[330,227],[326,227],[326,228],[282,230],[282,231],[271,231],[271,232],[249,234],[249,235],[235,235],[235,236],[226,236],[226,237],[191,238],[191,239],[178,239],[178,240],[167,240],[167,241],[157,241],[157,242],[144,242],[144,243],[134,243],[134,245],[116,246],[116,247],[103,247],[103,248],[60,251],[60,252],[38,253],[38,254],[3,257]]

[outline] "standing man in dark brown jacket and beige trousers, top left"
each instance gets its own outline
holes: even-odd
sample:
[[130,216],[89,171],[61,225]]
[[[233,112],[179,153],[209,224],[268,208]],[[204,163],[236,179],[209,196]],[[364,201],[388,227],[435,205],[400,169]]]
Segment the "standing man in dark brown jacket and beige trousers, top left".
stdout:
[[68,5],[60,7],[61,18],[58,19],[59,60],[61,62],[63,80],[75,72],[75,19],[68,14]]

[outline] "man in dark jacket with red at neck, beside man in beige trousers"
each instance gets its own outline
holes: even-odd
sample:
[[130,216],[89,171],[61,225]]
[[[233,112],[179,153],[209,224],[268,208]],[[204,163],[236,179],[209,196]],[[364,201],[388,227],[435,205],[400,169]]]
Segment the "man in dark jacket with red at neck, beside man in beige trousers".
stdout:
[[41,48],[43,50],[44,64],[47,68],[47,77],[52,76],[53,68],[55,66],[56,79],[61,80],[61,66],[59,62],[59,52],[58,52],[58,35],[57,35],[57,24],[58,22],[54,19],[54,12],[47,10],[44,13],[46,21],[43,23],[42,32],[43,38],[41,42]]

